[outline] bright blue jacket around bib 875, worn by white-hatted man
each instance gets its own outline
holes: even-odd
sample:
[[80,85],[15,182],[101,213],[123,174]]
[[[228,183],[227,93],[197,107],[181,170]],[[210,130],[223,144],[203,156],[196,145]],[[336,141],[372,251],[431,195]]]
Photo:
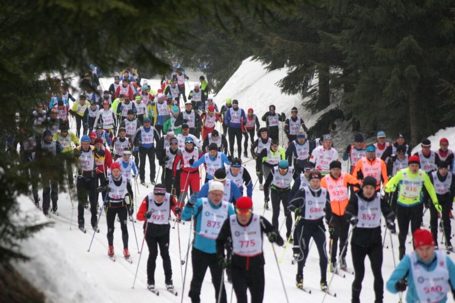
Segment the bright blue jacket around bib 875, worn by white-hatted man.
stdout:
[[[213,205],[210,202],[210,199],[209,199],[209,203],[210,203],[210,206],[214,209],[218,209],[221,207],[221,204],[219,204],[218,206]],[[191,206],[191,204],[189,204],[189,203],[187,203],[185,205],[183,211],[181,212],[181,219],[184,221],[190,221],[191,216],[194,216],[195,217],[194,226],[196,227],[196,235],[195,235],[194,244],[193,244],[194,248],[204,251],[207,254],[216,254],[215,239],[209,239],[209,238],[206,238],[199,234],[199,232],[201,230],[201,221],[202,221],[201,211],[202,211],[202,199],[198,198],[198,200],[194,206]],[[235,214],[234,208],[232,207],[231,204],[229,204],[229,207],[228,207],[228,214],[229,214],[228,218],[229,218],[229,216]],[[222,223],[221,223],[221,226],[222,226]]]

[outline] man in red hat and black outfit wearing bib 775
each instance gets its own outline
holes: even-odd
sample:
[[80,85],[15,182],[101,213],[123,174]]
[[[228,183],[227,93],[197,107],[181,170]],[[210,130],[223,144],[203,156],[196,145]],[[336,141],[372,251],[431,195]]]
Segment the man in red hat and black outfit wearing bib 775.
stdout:
[[[253,214],[253,201],[241,197],[236,204],[236,214],[230,215],[221,226],[216,238],[216,255],[221,269],[232,269],[232,286],[238,302],[262,302],[264,297],[263,234],[271,243],[284,244],[283,238],[264,217]],[[229,244],[228,244],[229,243]],[[234,251],[231,258],[224,254],[225,245]]]

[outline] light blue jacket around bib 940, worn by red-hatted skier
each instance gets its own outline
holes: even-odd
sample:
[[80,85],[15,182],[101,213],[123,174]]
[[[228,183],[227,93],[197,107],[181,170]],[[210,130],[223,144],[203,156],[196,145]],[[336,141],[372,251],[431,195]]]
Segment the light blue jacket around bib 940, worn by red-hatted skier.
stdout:
[[[435,256],[436,257],[436,256]],[[424,264],[423,261],[417,257],[418,262]],[[452,260],[449,257],[445,257],[447,262],[447,269],[449,272],[449,280],[450,286],[452,289],[455,289],[455,265],[453,265]],[[437,265],[437,258],[434,258],[433,262],[430,265],[426,266],[427,271],[432,271],[435,269]],[[395,289],[395,284],[399,280],[406,278],[407,280],[407,292],[406,292],[406,302],[414,303],[418,300],[418,295],[416,291],[416,286],[414,284],[413,273],[412,273],[412,266],[411,266],[411,258],[410,255],[404,256],[401,259],[400,263],[398,263],[397,267],[393,271],[392,275],[390,276],[389,280],[387,281],[386,287],[387,290],[391,293],[397,293],[398,291]],[[448,293],[449,295],[450,292]],[[444,303],[447,301],[447,296],[440,301],[440,303]]]

